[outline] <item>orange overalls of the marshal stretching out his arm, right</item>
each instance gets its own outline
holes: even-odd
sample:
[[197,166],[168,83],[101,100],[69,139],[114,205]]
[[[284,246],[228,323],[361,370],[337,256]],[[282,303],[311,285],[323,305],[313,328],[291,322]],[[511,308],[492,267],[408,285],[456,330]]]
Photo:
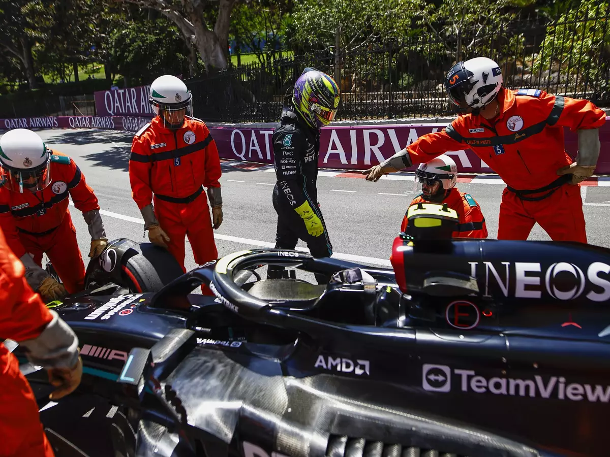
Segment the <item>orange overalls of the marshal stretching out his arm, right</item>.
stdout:
[[494,119],[459,116],[407,146],[412,163],[470,147],[506,183],[498,239],[527,239],[538,222],[554,241],[586,243],[580,185],[567,183],[571,175],[558,177],[557,171],[572,163],[564,150],[564,127],[597,129],[606,113],[589,101],[542,90],[503,89],[498,101]]

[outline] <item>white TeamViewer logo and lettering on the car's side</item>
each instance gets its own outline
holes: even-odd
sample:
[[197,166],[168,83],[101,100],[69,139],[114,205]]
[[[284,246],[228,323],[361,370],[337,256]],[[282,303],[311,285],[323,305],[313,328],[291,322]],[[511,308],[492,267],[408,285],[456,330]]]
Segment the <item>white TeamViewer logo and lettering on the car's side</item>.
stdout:
[[[452,376],[453,372],[453,376]],[[453,386],[451,385],[453,381]],[[457,381],[457,382],[456,382]],[[487,378],[474,370],[453,370],[447,365],[424,364],[422,387],[430,392],[468,392],[472,394],[509,395],[553,400],[608,403],[610,386],[570,383],[563,376],[533,378]]]

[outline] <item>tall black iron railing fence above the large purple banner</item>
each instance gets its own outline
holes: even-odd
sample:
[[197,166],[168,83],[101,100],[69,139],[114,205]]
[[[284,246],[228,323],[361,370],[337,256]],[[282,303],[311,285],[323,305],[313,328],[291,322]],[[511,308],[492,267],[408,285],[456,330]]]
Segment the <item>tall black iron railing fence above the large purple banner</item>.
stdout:
[[544,19],[473,27],[458,37],[422,34],[366,48],[296,55],[188,80],[195,115],[206,121],[269,122],[303,68],[331,74],[342,91],[337,119],[451,115],[442,82],[457,60],[496,60],[509,88],[540,88],[610,105],[610,20],[601,10],[569,21]]

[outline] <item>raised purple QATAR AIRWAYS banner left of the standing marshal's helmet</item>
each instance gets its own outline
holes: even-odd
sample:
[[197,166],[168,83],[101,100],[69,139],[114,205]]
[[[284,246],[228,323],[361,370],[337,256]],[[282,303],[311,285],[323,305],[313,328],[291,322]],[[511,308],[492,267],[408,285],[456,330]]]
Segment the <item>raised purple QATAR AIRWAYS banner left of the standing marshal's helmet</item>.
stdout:
[[100,90],[93,93],[98,116],[153,116],[148,103],[150,86]]

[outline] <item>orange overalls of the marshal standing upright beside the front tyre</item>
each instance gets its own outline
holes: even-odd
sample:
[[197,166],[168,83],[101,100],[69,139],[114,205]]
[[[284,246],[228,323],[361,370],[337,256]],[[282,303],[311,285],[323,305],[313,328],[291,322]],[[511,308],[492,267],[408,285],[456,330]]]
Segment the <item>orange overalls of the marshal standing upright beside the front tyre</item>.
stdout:
[[220,175],[218,149],[203,121],[185,117],[181,128],[170,130],[157,116],[134,136],[129,158],[132,197],[142,210],[154,194],[154,214],[184,272],[185,236],[196,263],[218,257],[203,186],[220,187]]

